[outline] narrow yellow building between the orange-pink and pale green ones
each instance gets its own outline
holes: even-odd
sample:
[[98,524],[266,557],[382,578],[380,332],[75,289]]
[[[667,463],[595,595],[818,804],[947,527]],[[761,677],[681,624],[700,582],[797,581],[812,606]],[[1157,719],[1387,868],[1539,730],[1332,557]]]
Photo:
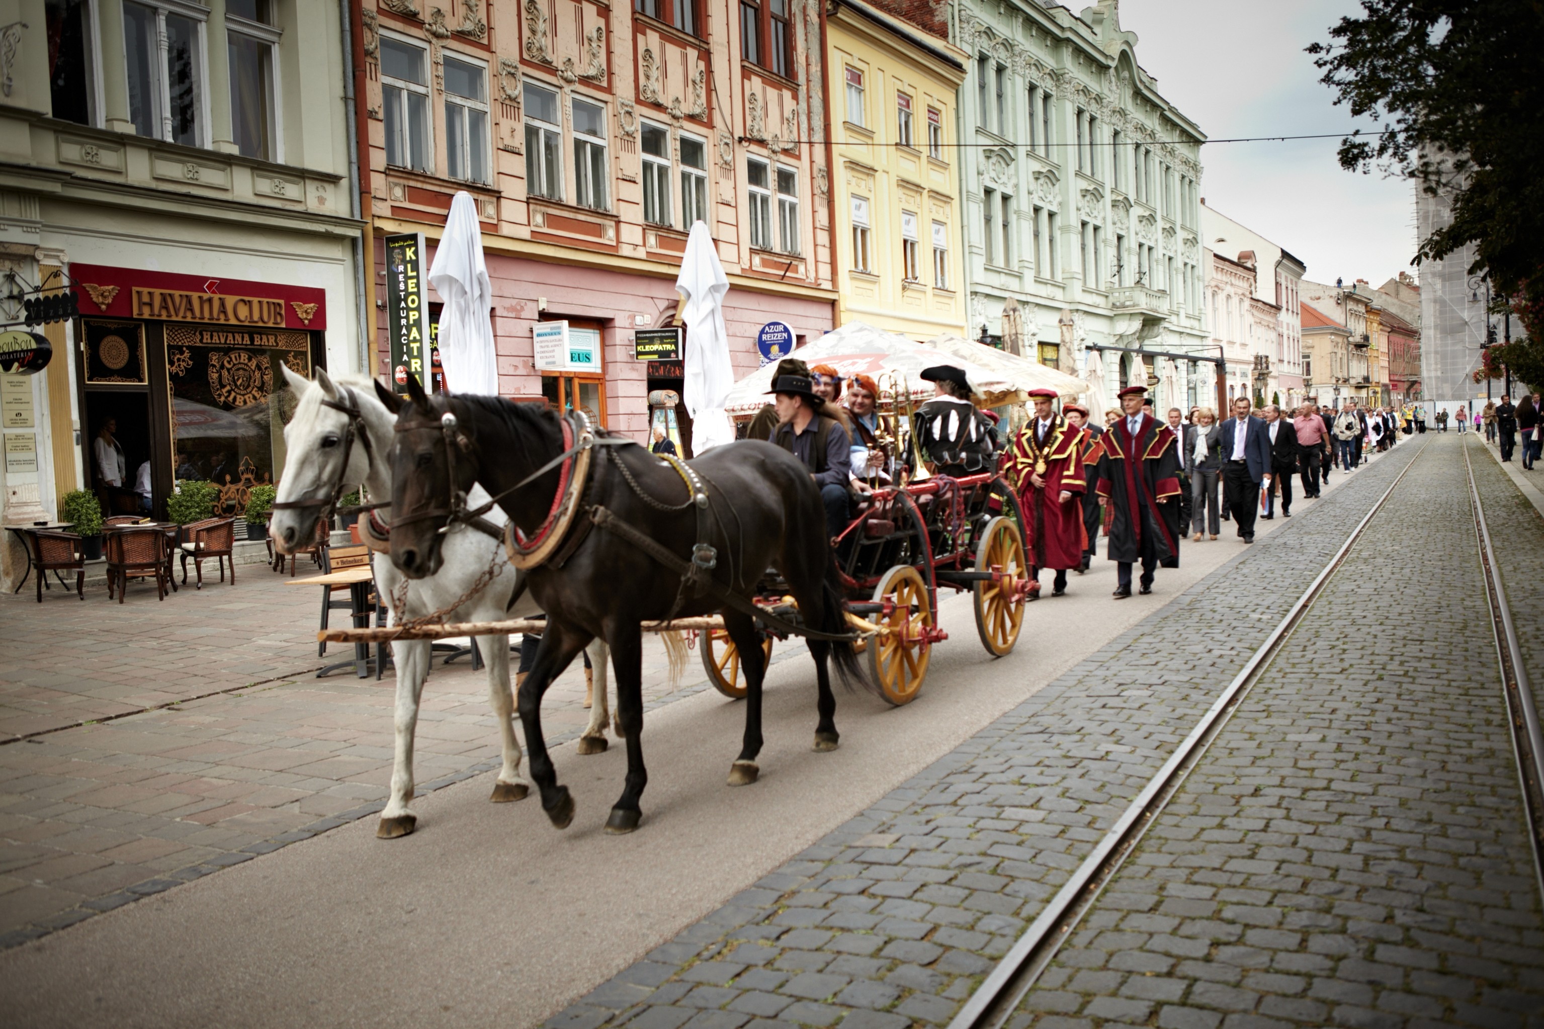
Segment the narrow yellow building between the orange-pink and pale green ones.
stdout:
[[865,0],[828,11],[837,324],[965,335],[954,97],[967,54]]

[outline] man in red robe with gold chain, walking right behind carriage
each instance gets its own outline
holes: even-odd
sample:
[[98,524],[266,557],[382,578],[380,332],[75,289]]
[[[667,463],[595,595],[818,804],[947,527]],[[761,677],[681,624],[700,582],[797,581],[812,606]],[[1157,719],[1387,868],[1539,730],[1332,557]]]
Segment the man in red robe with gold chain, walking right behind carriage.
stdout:
[[1067,570],[1082,565],[1082,430],[1056,414],[1055,389],[1031,389],[1034,417],[1008,453],[1007,477],[1024,507],[1030,578],[1053,569],[1051,596],[1067,592]]

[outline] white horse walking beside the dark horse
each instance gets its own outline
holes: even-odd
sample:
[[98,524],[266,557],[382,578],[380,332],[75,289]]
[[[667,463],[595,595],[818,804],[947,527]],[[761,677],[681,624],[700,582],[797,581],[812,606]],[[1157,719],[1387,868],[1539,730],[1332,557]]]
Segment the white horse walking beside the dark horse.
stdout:
[[[375,383],[369,379],[334,380],[321,368],[315,383],[284,368],[290,389],[300,399],[295,417],[284,428],[284,445],[289,451],[284,476],[279,481],[281,504],[300,501],[300,507],[276,507],[269,524],[269,535],[281,553],[309,542],[317,531],[317,518],[330,507],[335,496],[354,485],[363,484],[372,499],[391,499],[391,464],[386,459],[392,445],[392,426],[397,416],[375,396]],[[354,409],[350,414],[330,405]],[[354,439],[350,440],[350,423]],[[361,434],[364,439],[361,439]],[[346,462],[346,464],[344,464]],[[486,501],[479,488],[472,504]],[[369,538],[369,525],[361,518],[361,536]],[[381,508],[380,525],[389,525],[389,508]],[[374,547],[372,547],[374,548]],[[397,606],[403,618],[443,615],[448,623],[502,621],[505,618],[528,618],[540,613],[527,595],[510,609],[510,598],[519,581],[519,572],[508,564],[503,544],[466,525],[452,527],[445,538],[445,564],[438,573],[423,579],[406,579],[392,565],[391,558],[380,550],[374,555],[375,587],[391,609],[391,621],[397,623]],[[485,587],[466,596],[477,579],[489,569],[499,569]],[[488,697],[503,742],[503,766],[494,780],[496,803],[520,800],[530,786],[520,777],[520,743],[514,739],[514,694],[510,688],[510,637],[477,637],[477,649],[486,661]],[[391,800],[381,811],[375,834],[381,839],[406,836],[417,825],[412,813],[412,739],[418,725],[418,697],[423,680],[429,675],[429,640],[398,640],[391,644],[397,663],[397,745],[392,757]],[[579,739],[581,754],[599,754],[607,748],[607,664],[610,652],[596,638],[587,650],[594,671],[593,706],[590,725]],[[588,692],[588,691],[587,691]],[[587,697],[588,703],[588,697]]]

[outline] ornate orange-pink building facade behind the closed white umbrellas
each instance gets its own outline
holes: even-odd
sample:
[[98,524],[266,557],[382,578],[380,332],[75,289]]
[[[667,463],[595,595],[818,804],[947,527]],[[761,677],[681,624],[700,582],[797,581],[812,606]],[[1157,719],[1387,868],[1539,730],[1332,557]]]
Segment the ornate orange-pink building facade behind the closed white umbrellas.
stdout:
[[[787,0],[366,0],[357,57],[377,284],[381,238],[423,233],[428,269],[466,190],[500,392],[638,436],[647,396],[682,388],[681,360],[635,334],[678,324],[696,221],[730,281],[736,377],[757,368],[761,326],[786,323],[786,345],[820,335],[835,300],[821,19],[820,5]],[[543,323],[564,323],[542,332],[568,346],[539,355]],[[395,375],[386,328],[383,312],[377,368]]]

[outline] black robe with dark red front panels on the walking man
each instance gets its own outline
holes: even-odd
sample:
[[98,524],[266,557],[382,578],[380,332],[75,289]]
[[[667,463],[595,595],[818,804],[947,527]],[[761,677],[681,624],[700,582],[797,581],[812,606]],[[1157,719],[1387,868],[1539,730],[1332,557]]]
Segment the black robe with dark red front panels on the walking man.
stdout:
[[1121,416],[1099,437],[1099,496],[1112,508],[1110,561],[1180,567],[1180,453],[1173,431],[1144,414],[1132,439]]

